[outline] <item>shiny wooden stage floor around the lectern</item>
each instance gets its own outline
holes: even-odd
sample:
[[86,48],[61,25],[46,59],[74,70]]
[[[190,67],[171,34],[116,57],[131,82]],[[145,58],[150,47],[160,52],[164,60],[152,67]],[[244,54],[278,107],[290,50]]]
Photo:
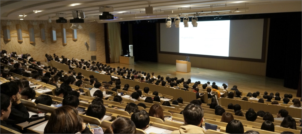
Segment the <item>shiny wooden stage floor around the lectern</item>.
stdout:
[[223,83],[228,85],[228,89],[231,89],[234,85],[238,86],[239,90],[243,91],[243,94],[248,92],[259,91],[263,94],[265,91],[269,93],[279,92],[280,95],[292,94],[296,96],[297,90],[289,89],[283,87],[284,79],[269,78],[266,76],[244,74],[244,73],[234,73],[221,70],[212,70],[205,68],[191,67],[190,73],[180,73],[176,72],[175,64],[165,64],[157,62],[148,61],[137,61],[134,65],[122,64],[122,63],[112,63],[107,64],[111,67],[126,67],[132,68],[134,70],[141,70],[147,73],[154,72],[154,76],[166,76],[177,77],[178,79],[184,78],[185,81],[191,79],[191,82],[200,81],[202,84],[208,81],[212,84],[216,83],[217,86],[222,86]]

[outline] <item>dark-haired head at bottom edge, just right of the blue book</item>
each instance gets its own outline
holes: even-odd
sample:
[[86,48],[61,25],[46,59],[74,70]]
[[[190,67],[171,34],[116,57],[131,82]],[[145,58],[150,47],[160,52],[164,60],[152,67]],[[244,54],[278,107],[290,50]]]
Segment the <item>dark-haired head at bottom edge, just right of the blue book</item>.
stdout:
[[232,120],[226,125],[226,133],[237,134],[244,133],[244,128],[239,120]]

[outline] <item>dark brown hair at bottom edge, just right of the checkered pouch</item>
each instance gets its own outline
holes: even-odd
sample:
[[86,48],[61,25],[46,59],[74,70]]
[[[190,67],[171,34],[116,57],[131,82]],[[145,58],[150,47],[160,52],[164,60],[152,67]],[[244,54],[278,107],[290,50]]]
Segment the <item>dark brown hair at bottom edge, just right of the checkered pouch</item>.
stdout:
[[113,121],[104,133],[119,134],[119,133],[136,133],[135,124],[126,117],[119,117]]

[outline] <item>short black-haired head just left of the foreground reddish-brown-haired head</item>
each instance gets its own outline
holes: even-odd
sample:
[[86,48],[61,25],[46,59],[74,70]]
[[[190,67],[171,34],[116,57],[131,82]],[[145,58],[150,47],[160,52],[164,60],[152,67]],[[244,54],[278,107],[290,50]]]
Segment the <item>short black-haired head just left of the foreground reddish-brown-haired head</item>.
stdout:
[[131,120],[138,129],[145,130],[150,122],[149,114],[145,110],[136,111],[131,115]]

